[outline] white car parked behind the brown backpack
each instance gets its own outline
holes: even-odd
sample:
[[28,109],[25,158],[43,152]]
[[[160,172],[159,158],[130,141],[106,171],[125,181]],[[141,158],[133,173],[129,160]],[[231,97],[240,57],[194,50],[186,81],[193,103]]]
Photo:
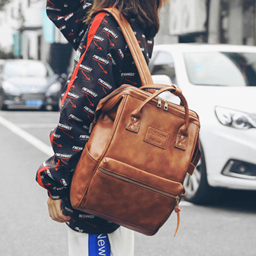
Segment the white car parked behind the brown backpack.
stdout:
[[169,76],[200,117],[202,158],[186,177],[186,199],[208,202],[214,187],[256,190],[256,47],[156,45],[149,67]]

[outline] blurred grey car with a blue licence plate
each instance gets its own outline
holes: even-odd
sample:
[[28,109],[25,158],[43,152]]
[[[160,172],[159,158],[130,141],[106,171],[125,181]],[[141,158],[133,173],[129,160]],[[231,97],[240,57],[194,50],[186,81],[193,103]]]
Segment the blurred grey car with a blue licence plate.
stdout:
[[0,109],[59,110],[61,83],[50,65],[38,60],[1,60]]

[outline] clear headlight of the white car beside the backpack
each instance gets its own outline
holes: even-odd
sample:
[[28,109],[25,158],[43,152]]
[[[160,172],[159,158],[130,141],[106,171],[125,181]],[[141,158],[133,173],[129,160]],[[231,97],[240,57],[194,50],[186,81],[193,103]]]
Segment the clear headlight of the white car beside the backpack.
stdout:
[[222,107],[215,107],[215,114],[223,125],[237,129],[256,128],[256,115]]

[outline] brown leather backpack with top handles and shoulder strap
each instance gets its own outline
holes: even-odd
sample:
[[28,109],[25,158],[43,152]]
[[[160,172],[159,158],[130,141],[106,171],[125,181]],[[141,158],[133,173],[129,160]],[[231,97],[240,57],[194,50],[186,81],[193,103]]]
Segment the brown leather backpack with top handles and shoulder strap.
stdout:
[[[178,212],[186,194],[185,176],[193,174],[199,161],[199,118],[188,109],[179,87],[153,84],[129,23],[116,9],[102,11],[119,23],[142,89],[154,93],[122,85],[99,102],[74,172],[70,200],[75,209],[154,235],[174,209]],[[158,97],[166,90],[177,95],[181,105],[166,105]]]

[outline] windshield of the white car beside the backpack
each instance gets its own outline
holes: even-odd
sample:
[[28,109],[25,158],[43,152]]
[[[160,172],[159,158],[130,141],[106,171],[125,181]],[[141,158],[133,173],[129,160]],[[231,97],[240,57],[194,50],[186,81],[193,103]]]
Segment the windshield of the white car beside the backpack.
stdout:
[[195,85],[256,86],[256,53],[184,53],[188,78]]

